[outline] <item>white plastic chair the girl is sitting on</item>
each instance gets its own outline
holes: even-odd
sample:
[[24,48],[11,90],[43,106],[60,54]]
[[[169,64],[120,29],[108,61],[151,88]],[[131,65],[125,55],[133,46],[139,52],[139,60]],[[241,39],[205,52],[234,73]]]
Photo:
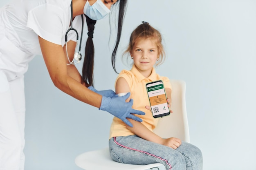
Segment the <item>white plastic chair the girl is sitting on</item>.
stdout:
[[[169,116],[158,118],[159,122],[154,132],[163,138],[177,137],[189,142],[189,126],[186,115],[184,81],[171,80],[173,113]],[[111,159],[108,148],[85,152],[75,159],[77,166],[84,170],[147,170],[161,166],[161,163],[149,165],[131,165],[118,163]]]

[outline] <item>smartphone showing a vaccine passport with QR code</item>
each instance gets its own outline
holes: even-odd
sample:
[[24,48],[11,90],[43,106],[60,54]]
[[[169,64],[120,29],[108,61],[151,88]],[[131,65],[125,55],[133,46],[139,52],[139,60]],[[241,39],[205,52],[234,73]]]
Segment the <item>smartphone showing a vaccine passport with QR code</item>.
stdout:
[[153,113],[153,117],[164,117],[170,115],[166,93],[162,80],[146,84],[148,99]]

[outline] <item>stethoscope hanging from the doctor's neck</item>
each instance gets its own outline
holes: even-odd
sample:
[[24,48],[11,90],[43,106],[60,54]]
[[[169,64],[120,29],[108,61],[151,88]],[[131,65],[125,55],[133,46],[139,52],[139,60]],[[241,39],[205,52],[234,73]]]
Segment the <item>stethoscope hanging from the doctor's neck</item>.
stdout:
[[[72,1],[71,1],[71,4],[70,4],[70,7],[71,7],[70,29],[67,30],[66,35],[65,35],[66,53],[67,53],[67,33],[71,30],[76,32],[76,48],[77,48],[78,39],[79,39],[78,32],[76,31],[76,29],[73,28],[73,25],[72,25],[72,21],[73,21]],[[76,48],[75,48],[74,58],[73,58],[72,61],[70,61],[70,58],[68,57],[68,53],[67,53],[67,60],[69,61],[69,63],[67,63],[67,65],[77,64],[82,59],[82,55],[81,55],[80,51],[81,51],[81,44],[82,44],[82,37],[83,37],[83,15],[81,15],[81,18],[82,18],[82,31],[81,31],[79,50],[78,50],[78,52],[76,52]]]

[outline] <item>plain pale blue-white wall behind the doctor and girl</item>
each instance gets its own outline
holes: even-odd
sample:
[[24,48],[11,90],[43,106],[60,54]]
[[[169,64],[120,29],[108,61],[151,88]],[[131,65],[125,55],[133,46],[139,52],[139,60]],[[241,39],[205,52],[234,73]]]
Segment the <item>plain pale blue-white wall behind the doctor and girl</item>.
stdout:
[[[1,0],[2,6],[7,0]],[[204,170],[255,170],[256,2],[254,0],[130,0],[119,55],[131,31],[147,21],[164,37],[161,75],[186,82],[191,143]],[[85,34],[86,35],[86,34]],[[94,31],[94,80],[114,89],[108,19]],[[117,60],[117,70],[128,68]],[[79,66],[81,69],[81,66]],[[26,170],[79,170],[77,155],[108,146],[112,116],[62,93],[43,57],[25,75]]]

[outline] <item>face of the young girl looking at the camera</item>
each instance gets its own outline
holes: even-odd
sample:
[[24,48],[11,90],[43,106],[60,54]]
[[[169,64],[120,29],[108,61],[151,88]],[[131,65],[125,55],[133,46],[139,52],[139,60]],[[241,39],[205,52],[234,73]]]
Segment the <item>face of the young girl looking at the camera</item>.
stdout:
[[144,77],[150,76],[152,68],[159,57],[155,41],[149,38],[137,40],[130,55],[133,57],[136,68]]

